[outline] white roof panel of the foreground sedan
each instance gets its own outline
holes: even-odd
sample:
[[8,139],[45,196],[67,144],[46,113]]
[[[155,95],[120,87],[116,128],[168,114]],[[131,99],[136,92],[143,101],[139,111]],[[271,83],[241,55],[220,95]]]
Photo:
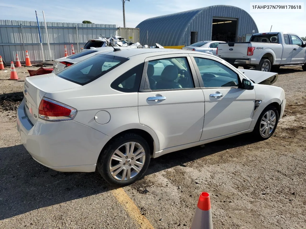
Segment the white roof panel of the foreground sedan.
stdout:
[[[120,47],[117,47],[120,48]],[[132,56],[143,55],[145,58],[150,56],[159,56],[159,55],[167,55],[167,54],[176,54],[176,53],[195,53],[194,51],[185,50],[185,49],[160,49],[160,48],[132,48],[132,49],[122,49],[120,51],[109,51],[98,53],[97,55],[112,55],[112,56],[120,56],[125,58],[130,58]],[[201,53],[206,54],[206,53]],[[206,54],[211,55],[211,54]]]

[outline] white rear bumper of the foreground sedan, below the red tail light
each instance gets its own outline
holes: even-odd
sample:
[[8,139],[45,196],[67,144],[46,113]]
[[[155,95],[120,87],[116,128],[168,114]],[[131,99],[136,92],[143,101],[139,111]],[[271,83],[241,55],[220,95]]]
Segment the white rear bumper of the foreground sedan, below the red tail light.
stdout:
[[40,164],[62,172],[94,172],[100,151],[109,136],[74,121],[49,122],[42,119],[33,125],[24,108],[17,110],[17,130],[21,142]]

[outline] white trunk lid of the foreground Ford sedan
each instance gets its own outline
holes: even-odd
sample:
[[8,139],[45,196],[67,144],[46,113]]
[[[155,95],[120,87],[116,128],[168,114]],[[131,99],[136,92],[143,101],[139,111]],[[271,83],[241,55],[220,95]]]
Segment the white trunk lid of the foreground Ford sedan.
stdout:
[[39,118],[38,107],[46,93],[76,87],[81,87],[81,85],[60,78],[53,73],[25,78],[23,91],[25,112],[32,124],[34,125]]

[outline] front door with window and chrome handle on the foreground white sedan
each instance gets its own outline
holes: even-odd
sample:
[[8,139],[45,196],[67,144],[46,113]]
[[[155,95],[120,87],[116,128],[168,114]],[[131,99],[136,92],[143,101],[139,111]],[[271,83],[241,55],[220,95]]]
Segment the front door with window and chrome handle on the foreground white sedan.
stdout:
[[255,91],[240,88],[237,70],[225,62],[192,54],[205,99],[200,140],[248,130],[252,122]]

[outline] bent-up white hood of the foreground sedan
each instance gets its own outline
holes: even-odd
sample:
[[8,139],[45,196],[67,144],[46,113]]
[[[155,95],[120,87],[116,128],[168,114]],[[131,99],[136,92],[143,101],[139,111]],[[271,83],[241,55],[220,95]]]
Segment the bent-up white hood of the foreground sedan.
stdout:
[[246,77],[251,79],[257,84],[272,85],[277,81],[278,73],[276,72],[267,72],[267,71],[256,71],[256,70],[246,70],[246,69],[237,69]]

